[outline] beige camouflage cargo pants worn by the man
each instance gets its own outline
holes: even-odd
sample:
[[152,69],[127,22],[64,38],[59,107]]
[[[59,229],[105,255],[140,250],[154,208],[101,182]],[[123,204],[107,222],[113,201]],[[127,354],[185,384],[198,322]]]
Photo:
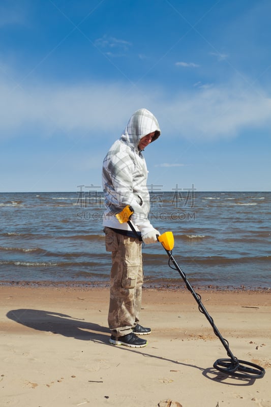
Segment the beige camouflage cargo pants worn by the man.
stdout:
[[139,321],[143,284],[140,242],[104,228],[106,251],[112,252],[108,326],[114,336],[132,332]]

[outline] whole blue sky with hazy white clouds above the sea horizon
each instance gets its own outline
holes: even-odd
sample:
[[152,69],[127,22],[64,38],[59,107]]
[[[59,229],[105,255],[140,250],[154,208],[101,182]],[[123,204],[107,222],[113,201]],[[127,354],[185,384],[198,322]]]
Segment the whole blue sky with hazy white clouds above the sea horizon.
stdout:
[[270,14],[261,0],[1,0],[0,191],[100,187],[142,107],[162,130],[148,185],[270,191]]

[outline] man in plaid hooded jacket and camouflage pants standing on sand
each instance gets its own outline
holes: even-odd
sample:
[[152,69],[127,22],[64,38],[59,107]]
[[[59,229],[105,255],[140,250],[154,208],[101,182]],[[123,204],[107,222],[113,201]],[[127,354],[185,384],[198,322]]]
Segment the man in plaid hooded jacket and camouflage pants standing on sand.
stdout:
[[[156,243],[160,235],[148,220],[149,193],[147,168],[142,151],[161,134],[153,113],[137,110],[121,138],[116,140],[103,162],[105,196],[104,232],[106,250],[112,252],[108,325],[113,345],[143,347],[150,328],[139,325],[143,283],[142,241]],[[131,221],[135,237],[127,223],[115,215],[127,205],[133,208]]]

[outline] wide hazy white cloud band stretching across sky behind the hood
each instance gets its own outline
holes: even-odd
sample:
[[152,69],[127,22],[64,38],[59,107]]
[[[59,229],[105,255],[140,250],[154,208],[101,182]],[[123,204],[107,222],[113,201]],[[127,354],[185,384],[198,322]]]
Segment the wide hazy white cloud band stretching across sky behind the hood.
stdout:
[[166,137],[213,140],[271,125],[271,99],[260,89],[229,82],[174,95],[169,99],[168,91],[157,86],[98,82],[22,89],[0,78],[0,137],[20,137],[34,129],[37,137],[59,132],[97,137],[102,132],[114,140],[141,107],[154,111]]

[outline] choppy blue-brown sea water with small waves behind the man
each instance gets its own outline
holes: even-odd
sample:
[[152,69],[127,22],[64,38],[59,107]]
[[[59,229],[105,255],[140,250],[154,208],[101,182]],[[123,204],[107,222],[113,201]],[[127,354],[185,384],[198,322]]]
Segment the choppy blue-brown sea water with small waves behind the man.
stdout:
[[[103,200],[95,191],[1,193],[1,283],[108,285]],[[271,287],[270,192],[151,192],[150,206],[193,286]],[[142,252],[145,286],[184,286],[160,243]]]

